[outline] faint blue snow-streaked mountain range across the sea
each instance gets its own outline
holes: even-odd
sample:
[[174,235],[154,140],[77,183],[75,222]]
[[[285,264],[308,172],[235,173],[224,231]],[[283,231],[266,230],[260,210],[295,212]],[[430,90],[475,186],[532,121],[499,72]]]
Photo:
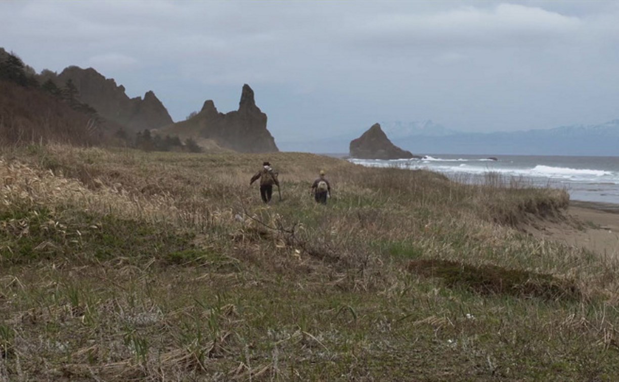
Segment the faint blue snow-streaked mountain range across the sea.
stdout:
[[[431,121],[381,122],[381,126],[395,145],[416,155],[619,156],[619,119],[599,125],[491,133],[457,132]],[[350,140],[357,135],[338,135],[310,142],[282,142],[280,147],[290,151],[347,153]],[[316,150],[316,147],[321,150]]]

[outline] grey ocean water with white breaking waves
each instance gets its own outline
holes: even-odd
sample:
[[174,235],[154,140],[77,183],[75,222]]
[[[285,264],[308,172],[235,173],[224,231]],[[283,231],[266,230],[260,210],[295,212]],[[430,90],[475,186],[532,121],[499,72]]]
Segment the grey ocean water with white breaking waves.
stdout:
[[426,155],[422,159],[355,159],[372,167],[428,169],[461,182],[483,182],[488,174],[534,187],[555,187],[571,200],[619,204],[619,156]]

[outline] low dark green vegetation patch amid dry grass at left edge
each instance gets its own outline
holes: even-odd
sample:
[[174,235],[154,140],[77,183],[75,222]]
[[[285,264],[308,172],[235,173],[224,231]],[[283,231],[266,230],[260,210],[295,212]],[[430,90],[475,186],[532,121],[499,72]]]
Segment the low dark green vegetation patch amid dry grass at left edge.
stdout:
[[181,233],[165,224],[141,223],[112,215],[97,216],[75,210],[4,211],[0,230],[2,263],[23,264],[40,260],[87,261],[173,256],[191,252],[195,234]]

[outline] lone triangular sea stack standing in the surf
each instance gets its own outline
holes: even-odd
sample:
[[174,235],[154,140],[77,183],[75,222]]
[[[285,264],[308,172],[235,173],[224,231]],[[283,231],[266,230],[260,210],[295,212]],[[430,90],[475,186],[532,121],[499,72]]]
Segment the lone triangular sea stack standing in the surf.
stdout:
[[418,158],[391,143],[379,124],[372,125],[361,137],[350,142],[350,156],[360,159]]

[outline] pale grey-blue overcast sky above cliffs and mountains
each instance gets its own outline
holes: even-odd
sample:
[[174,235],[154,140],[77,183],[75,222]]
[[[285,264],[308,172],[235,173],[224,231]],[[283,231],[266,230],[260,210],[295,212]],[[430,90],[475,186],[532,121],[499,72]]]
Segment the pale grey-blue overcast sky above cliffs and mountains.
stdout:
[[619,118],[615,1],[0,1],[0,19],[38,72],[93,67],[175,121],[207,99],[235,110],[248,83],[276,142]]

